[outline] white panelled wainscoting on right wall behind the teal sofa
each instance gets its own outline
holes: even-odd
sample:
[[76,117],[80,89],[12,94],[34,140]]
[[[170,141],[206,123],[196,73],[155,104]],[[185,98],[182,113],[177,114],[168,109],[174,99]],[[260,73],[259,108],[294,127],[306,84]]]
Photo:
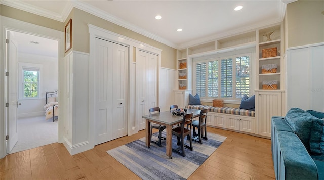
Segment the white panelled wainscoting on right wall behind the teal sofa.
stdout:
[[287,110],[324,111],[324,43],[287,50]]

